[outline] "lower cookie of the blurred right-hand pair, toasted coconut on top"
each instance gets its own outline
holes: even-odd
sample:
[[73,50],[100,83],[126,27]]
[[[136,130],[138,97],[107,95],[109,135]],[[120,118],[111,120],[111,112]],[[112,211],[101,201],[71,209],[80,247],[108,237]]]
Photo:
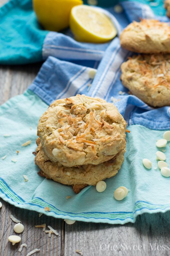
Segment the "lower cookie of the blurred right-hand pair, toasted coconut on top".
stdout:
[[121,70],[132,94],[153,107],[170,106],[170,54],[134,55]]

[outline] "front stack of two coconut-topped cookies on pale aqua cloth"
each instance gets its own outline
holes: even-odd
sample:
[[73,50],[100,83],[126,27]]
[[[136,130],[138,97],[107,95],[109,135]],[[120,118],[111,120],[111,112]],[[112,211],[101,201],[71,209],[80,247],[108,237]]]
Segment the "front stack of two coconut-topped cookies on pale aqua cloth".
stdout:
[[113,177],[124,160],[126,122],[105,100],[77,95],[56,100],[41,116],[35,163],[39,174],[78,193]]

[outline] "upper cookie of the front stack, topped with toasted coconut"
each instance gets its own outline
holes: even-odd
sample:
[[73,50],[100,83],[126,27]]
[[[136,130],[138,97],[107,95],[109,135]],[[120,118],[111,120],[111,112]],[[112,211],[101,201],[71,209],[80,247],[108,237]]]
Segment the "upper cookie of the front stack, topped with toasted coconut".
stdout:
[[40,118],[37,135],[53,162],[73,167],[112,159],[126,147],[125,130],[112,103],[77,95],[52,103]]

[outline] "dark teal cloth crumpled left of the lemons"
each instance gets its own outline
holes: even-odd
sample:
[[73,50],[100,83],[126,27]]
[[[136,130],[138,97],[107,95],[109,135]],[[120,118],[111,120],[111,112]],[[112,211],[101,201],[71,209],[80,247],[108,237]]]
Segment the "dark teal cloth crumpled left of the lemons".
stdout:
[[32,1],[11,0],[0,8],[0,64],[41,61],[47,33],[36,19]]

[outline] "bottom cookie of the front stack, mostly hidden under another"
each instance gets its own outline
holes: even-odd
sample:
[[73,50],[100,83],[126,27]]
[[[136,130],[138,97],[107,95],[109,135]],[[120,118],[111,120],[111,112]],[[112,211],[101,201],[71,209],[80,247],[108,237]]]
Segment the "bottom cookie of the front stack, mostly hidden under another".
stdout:
[[79,190],[87,185],[95,186],[98,181],[115,176],[124,160],[125,149],[121,150],[114,158],[107,162],[79,167],[65,167],[59,162],[53,162],[43,151],[40,139],[37,140],[35,164],[41,169],[41,176],[52,179],[65,185],[72,185]]

